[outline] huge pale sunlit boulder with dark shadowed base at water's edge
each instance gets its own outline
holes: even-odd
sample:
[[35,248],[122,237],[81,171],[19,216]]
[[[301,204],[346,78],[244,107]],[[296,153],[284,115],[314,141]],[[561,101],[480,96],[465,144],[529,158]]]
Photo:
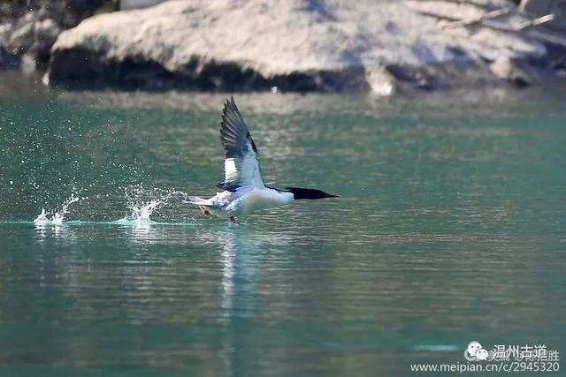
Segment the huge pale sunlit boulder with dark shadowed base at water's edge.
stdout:
[[486,82],[486,75],[493,78],[486,55],[544,54],[531,41],[492,43],[488,54],[483,49],[469,34],[447,33],[402,2],[178,0],[95,16],[59,34],[48,78],[145,88],[389,93]]

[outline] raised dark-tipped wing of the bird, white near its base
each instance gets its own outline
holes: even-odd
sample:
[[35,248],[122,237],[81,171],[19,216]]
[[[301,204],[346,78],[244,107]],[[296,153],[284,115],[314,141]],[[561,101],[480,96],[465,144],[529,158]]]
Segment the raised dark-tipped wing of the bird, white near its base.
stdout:
[[240,187],[264,187],[256,143],[233,97],[224,104],[220,139],[225,151],[225,178],[219,186],[232,192]]

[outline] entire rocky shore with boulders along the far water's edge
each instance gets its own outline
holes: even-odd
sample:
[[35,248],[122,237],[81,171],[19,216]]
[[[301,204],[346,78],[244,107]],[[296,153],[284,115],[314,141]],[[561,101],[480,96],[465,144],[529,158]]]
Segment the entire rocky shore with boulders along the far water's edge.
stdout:
[[506,0],[172,0],[75,26],[39,10],[0,26],[0,67],[40,70],[50,85],[153,90],[549,85],[566,76],[566,39],[560,15],[536,11]]

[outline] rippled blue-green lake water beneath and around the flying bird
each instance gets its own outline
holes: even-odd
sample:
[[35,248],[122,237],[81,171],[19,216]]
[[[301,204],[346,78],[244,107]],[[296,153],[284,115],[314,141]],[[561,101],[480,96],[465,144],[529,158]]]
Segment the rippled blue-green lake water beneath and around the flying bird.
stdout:
[[566,97],[236,95],[267,183],[342,196],[238,226],[182,202],[222,180],[227,95],[0,89],[0,375],[566,352]]

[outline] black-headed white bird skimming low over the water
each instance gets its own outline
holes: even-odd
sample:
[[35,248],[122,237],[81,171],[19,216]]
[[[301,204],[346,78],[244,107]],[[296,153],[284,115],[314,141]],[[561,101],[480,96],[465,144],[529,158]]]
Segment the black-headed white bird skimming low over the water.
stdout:
[[322,190],[285,187],[278,189],[264,184],[259,167],[258,151],[254,139],[249,133],[241,112],[233,100],[226,100],[220,122],[220,141],[224,148],[224,181],[217,192],[209,199],[187,196],[186,202],[200,207],[205,216],[212,212],[224,212],[230,222],[239,223],[240,215],[248,215],[259,209],[279,207],[294,200],[317,200],[340,198]]

